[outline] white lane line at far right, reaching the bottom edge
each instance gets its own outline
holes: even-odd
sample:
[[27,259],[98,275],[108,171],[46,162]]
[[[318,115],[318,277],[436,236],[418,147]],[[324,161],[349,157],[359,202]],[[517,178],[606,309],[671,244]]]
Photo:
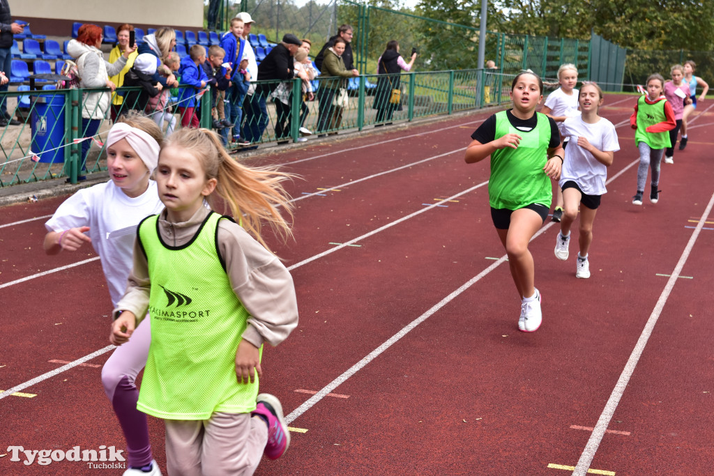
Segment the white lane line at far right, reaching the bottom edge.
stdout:
[[689,242],[684,248],[684,251],[680,256],[677,265],[675,265],[675,268],[672,271],[672,275],[667,280],[667,284],[662,290],[660,298],[657,300],[655,308],[650,314],[650,318],[647,320],[645,328],[642,330],[642,334],[640,334],[640,338],[637,340],[637,344],[635,344],[635,348],[633,349],[632,353],[630,354],[630,358],[625,364],[623,372],[620,374],[618,383],[615,384],[613,393],[610,394],[610,398],[608,398],[608,402],[605,404],[605,409],[600,414],[600,418],[598,418],[598,424],[595,425],[595,430],[593,430],[593,433],[590,435],[590,439],[588,440],[588,444],[585,445],[585,450],[583,450],[582,455],[580,455],[580,460],[578,460],[578,465],[575,466],[573,476],[586,476],[588,474],[588,469],[590,468],[590,464],[593,462],[595,452],[598,451],[600,442],[603,440],[605,430],[608,429],[608,425],[610,424],[610,420],[612,419],[613,414],[615,413],[615,410],[618,407],[620,398],[623,396],[623,393],[625,393],[625,388],[627,388],[627,385],[630,381],[630,377],[632,377],[632,374],[635,371],[635,367],[637,366],[637,363],[640,360],[640,356],[645,350],[645,345],[647,345],[647,341],[650,338],[650,335],[652,335],[652,331],[655,328],[655,324],[657,323],[657,320],[659,319],[660,314],[662,313],[662,310],[665,304],[667,303],[667,299],[669,298],[670,293],[672,293],[672,289],[674,288],[674,285],[677,282],[677,278],[679,277],[682,268],[687,262],[687,259],[689,258],[689,255],[692,252],[692,248],[694,247],[694,243],[696,242],[699,233],[704,226],[704,222],[709,216],[709,213],[711,213],[713,206],[714,195],[712,195],[712,197],[710,198],[707,208],[702,218],[700,218],[699,220],[697,228],[695,228],[695,230],[692,232],[692,236],[689,238]]

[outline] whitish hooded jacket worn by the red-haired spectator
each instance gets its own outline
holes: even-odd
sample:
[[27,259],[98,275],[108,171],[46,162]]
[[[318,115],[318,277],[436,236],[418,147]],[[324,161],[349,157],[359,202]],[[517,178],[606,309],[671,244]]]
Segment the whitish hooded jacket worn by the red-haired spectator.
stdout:
[[[95,46],[89,46],[72,39],[67,44],[67,54],[77,64],[81,88],[105,88],[109,76],[119,74],[126,65],[126,58],[119,56],[114,64],[104,61],[104,54]],[[82,117],[85,119],[102,119],[111,103],[109,91],[84,93],[82,96]]]

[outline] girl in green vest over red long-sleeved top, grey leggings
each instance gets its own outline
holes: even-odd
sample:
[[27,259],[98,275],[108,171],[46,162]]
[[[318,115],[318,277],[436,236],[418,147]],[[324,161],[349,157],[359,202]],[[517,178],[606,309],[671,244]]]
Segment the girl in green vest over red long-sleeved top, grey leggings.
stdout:
[[662,75],[650,74],[647,79],[647,94],[638,98],[635,112],[630,116],[630,126],[636,130],[635,143],[640,151],[640,166],[637,169],[637,193],[633,205],[642,205],[645,194],[647,169],[652,168],[650,202],[657,203],[660,190],[660,161],[665,148],[672,146],[669,134],[677,126],[674,111],[662,94],[665,79]]

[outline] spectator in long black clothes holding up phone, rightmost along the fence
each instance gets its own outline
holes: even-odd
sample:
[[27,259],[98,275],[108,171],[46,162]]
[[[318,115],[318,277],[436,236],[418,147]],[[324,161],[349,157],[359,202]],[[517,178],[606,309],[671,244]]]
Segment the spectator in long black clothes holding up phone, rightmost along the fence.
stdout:
[[[399,44],[396,40],[387,42],[387,48],[382,56],[377,60],[377,88],[374,93],[374,103],[372,107],[377,110],[375,127],[383,126],[382,122],[391,124],[394,111],[401,111],[401,71],[411,71],[411,67],[416,60],[416,51],[411,54],[411,60],[406,63],[399,54]],[[398,94],[393,91],[400,91]]]

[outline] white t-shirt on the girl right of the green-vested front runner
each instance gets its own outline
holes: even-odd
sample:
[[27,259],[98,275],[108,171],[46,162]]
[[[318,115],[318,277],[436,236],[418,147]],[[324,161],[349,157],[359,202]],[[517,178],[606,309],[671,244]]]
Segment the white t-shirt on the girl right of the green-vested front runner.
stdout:
[[613,123],[603,117],[594,124],[583,122],[580,116],[570,117],[563,121],[562,133],[569,137],[570,141],[565,147],[565,160],[558,182],[560,187],[567,181],[573,181],[586,195],[606,193],[605,179],[608,177],[608,168],[604,163],[598,162],[592,153],[578,146],[578,137],[585,137],[600,151],[619,151],[620,143]]

